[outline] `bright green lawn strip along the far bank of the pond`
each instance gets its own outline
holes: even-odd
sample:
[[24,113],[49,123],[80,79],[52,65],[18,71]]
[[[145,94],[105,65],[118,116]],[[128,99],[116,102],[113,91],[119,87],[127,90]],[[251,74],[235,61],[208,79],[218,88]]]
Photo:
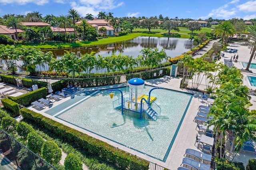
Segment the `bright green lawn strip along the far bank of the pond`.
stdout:
[[[194,31],[195,34],[200,32],[211,32],[211,28],[202,28],[200,31]],[[120,37],[108,37],[102,38],[95,41],[88,41],[88,42],[71,42],[71,43],[36,43],[36,44],[23,44],[26,46],[36,46],[40,49],[56,49],[56,48],[71,48],[71,47],[89,47],[89,46],[97,46],[97,45],[104,45],[109,43],[116,43],[116,42],[123,42],[127,40],[132,40],[139,36],[152,36],[152,37],[166,37],[163,33],[167,33],[167,31],[162,29],[151,29],[148,32],[148,29],[135,29],[133,33],[130,33],[125,36]],[[180,32],[178,32],[178,38],[190,38],[191,33],[187,28],[180,27]]]

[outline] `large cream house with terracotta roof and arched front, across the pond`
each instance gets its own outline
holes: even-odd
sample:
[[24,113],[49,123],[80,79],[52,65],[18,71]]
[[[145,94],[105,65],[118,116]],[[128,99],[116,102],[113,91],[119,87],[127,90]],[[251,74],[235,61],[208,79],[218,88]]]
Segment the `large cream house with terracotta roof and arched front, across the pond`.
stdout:
[[[114,28],[112,26],[110,26],[109,22],[107,22],[106,20],[100,20],[100,19],[94,18],[93,20],[87,20],[87,22],[92,27],[96,28],[98,34],[107,34],[109,36],[114,35]],[[82,21],[76,22],[77,25],[79,25],[81,23],[82,23]],[[104,33],[99,32],[99,29],[101,27],[105,27],[106,32],[104,32]]]

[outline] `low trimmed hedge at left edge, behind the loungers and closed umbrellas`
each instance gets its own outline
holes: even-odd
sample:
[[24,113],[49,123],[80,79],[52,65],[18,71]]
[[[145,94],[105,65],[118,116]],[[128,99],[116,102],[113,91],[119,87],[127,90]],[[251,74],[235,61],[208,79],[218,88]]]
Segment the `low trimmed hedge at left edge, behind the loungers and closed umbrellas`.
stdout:
[[[0,76],[1,76],[2,81],[4,81],[5,83],[12,84],[12,85],[17,85],[15,79],[22,79],[22,83],[23,83],[24,87],[28,87],[28,88],[32,87],[32,80],[31,79],[27,79],[27,78],[24,78],[24,77],[18,77],[18,76],[15,76],[15,75],[12,76],[12,75],[3,75],[3,74],[1,74]],[[48,84],[44,81],[33,80],[33,84],[37,84],[38,88],[48,86]]]

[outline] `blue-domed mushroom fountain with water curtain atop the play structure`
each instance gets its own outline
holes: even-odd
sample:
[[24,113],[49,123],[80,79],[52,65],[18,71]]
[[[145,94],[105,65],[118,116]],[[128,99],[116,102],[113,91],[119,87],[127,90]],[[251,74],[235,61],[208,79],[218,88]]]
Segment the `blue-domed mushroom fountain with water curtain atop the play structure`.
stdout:
[[128,80],[128,86],[130,87],[130,97],[132,101],[140,102],[138,101],[138,94],[143,94],[144,84],[144,80],[140,78],[133,78]]

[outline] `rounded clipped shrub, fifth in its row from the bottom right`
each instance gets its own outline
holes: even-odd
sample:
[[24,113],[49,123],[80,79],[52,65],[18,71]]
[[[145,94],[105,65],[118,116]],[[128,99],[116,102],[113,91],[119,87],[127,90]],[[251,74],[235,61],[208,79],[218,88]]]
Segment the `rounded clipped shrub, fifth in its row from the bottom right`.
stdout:
[[2,127],[7,133],[14,134],[14,132],[16,132],[17,124],[18,122],[16,119],[10,116],[3,117],[2,119]]

